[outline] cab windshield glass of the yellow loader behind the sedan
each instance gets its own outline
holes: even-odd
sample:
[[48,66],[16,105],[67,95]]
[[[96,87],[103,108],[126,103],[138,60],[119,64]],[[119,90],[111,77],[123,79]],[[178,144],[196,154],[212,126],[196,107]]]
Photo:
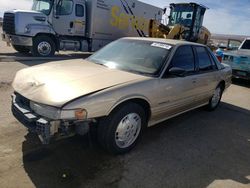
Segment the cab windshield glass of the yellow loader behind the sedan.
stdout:
[[171,8],[169,25],[182,24],[192,25],[194,8],[192,6],[175,5]]

